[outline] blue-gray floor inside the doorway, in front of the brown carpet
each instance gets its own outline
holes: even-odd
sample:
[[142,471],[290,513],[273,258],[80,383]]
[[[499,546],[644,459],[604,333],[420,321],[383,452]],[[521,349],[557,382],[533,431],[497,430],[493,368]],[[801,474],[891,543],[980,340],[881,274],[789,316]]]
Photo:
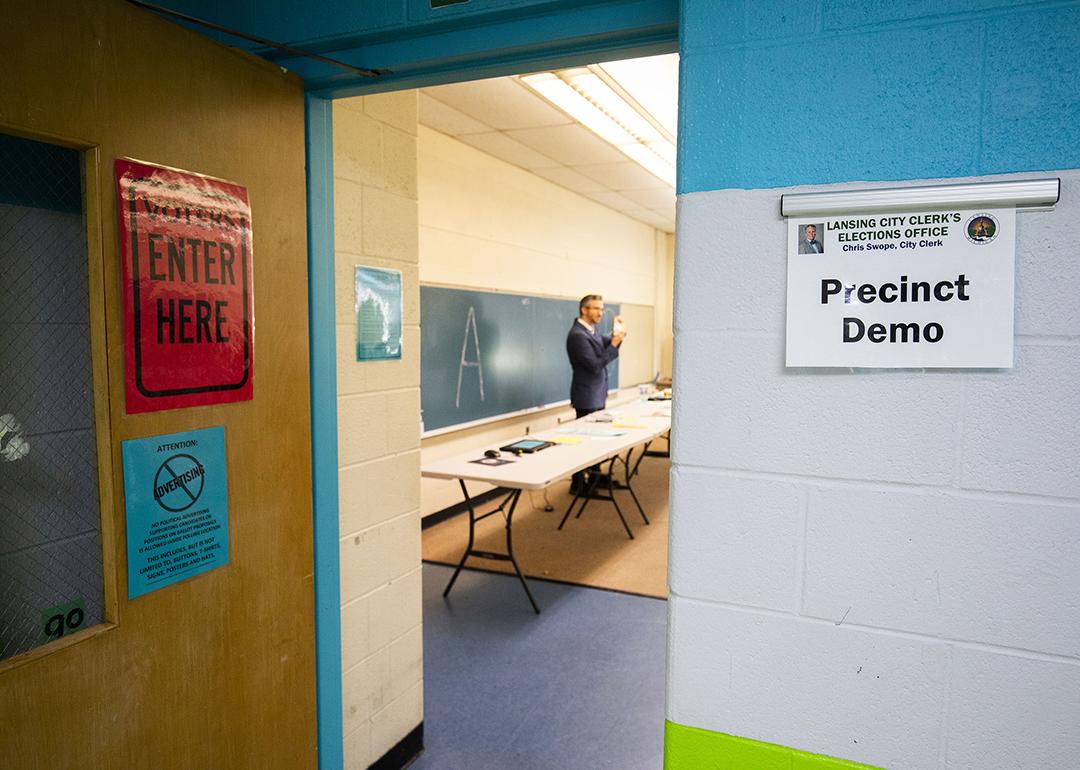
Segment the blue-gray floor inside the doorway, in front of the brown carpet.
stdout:
[[667,603],[423,566],[424,754],[413,770],[658,770]]

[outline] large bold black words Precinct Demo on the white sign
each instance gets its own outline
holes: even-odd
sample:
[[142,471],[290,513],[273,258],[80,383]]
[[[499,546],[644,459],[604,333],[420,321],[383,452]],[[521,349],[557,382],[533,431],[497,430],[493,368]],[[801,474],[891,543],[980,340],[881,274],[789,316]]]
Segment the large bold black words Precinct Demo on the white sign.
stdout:
[[[901,275],[899,281],[882,284],[845,284],[840,279],[826,278],[821,281],[821,303],[967,302],[971,299],[970,287],[971,282],[964,273],[948,281],[912,281],[907,275]],[[845,342],[940,342],[944,337],[945,327],[936,321],[866,324],[862,319],[849,315],[842,322]]]

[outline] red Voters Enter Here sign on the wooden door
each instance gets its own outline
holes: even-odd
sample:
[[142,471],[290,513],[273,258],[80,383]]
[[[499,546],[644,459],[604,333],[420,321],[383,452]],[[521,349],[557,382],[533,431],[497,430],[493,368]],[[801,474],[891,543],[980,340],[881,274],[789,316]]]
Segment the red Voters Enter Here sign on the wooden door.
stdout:
[[117,159],[129,413],[252,397],[252,215],[240,185]]

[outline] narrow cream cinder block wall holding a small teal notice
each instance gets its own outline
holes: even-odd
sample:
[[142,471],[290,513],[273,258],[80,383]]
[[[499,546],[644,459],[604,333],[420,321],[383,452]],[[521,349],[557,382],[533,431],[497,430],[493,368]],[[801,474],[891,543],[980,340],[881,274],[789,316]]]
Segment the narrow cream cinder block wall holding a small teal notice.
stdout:
[[[334,103],[342,722],[366,768],[423,719],[415,91]],[[396,362],[356,361],[354,268],[402,271]]]

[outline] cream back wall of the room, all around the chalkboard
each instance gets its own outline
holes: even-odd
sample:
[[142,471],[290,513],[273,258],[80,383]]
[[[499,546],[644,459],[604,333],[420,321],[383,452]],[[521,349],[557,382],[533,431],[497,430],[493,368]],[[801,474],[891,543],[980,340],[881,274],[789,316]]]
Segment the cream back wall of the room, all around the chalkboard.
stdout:
[[[575,299],[603,294],[622,305],[630,330],[619,356],[620,387],[653,378],[664,345],[671,349],[672,254],[664,233],[424,126],[418,172],[421,281]],[[667,360],[670,373],[670,353]],[[428,437],[422,457],[446,457],[572,416],[569,408],[548,409]],[[458,502],[456,483],[422,481],[423,514]]]

